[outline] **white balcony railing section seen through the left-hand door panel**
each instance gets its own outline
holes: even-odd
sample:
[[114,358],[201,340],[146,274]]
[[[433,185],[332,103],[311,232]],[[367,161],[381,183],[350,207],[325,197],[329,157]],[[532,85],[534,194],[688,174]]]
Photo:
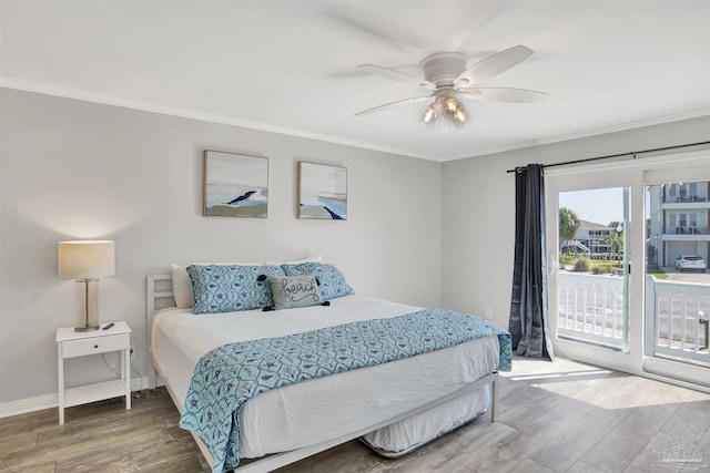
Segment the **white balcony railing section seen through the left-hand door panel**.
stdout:
[[559,271],[557,335],[625,347],[623,278]]

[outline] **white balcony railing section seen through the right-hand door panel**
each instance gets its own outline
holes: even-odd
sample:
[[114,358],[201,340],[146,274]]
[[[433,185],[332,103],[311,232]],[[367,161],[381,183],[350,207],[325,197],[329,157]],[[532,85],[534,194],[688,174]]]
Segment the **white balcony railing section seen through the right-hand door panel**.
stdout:
[[710,285],[646,277],[646,354],[710,367]]

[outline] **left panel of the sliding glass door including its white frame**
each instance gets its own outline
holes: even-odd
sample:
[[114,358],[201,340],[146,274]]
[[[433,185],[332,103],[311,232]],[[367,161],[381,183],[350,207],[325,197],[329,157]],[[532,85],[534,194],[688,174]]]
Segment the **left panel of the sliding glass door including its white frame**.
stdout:
[[546,176],[555,351],[623,370],[638,370],[641,356],[630,297],[631,185],[604,172]]

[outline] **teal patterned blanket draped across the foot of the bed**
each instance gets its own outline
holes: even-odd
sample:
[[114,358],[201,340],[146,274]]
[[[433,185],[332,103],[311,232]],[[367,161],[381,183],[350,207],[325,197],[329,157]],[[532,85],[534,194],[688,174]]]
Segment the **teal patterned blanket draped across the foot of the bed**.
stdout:
[[489,320],[443,309],[225,345],[195,367],[180,426],[200,435],[215,460],[213,472],[220,473],[239,464],[240,413],[255,395],[488,336],[499,340],[498,370],[510,371],[510,333]]

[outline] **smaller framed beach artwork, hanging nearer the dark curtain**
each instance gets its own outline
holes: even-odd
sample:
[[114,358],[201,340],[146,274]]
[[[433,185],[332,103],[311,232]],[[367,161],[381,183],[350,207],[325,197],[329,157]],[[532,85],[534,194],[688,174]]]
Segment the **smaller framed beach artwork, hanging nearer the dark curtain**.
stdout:
[[347,167],[298,162],[298,218],[347,219]]

